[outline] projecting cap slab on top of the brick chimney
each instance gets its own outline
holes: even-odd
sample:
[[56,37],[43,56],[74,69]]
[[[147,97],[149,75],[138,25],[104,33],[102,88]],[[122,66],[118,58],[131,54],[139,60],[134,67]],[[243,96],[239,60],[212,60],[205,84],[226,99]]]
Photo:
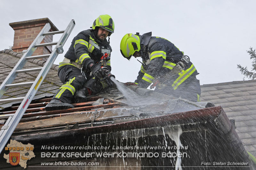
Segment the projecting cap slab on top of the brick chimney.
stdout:
[[32,19],[27,21],[20,21],[20,22],[12,22],[9,25],[14,28],[17,26],[24,26],[24,25],[31,25],[31,24],[38,24],[38,23],[50,23],[52,31],[59,31],[59,29],[52,23],[49,18],[40,18],[40,19]]

